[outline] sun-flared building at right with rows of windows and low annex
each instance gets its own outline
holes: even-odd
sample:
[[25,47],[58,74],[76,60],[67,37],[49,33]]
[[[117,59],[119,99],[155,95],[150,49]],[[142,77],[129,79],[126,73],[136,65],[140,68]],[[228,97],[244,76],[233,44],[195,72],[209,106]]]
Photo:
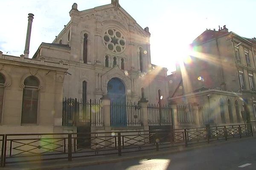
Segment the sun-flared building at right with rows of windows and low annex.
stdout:
[[192,42],[189,55],[168,76],[169,102],[209,108],[205,123],[255,122],[256,39],[226,26],[207,29]]

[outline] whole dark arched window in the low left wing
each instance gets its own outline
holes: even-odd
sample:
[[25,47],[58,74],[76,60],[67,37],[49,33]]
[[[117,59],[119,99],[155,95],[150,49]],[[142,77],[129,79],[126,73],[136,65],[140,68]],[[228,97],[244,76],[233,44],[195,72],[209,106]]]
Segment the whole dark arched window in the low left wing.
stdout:
[[22,124],[37,124],[39,82],[34,76],[29,76],[24,81],[22,99]]

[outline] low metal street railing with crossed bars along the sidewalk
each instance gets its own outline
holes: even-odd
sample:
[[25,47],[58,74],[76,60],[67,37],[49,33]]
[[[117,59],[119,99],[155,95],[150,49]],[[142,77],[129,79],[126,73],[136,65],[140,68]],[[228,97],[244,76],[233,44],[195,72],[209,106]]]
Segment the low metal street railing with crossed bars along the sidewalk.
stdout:
[[[252,136],[251,125],[233,125],[150,131],[102,133],[39,133],[0,135],[1,166],[6,164],[56,159],[102,156],[159,150],[199,142]],[[90,145],[81,141],[90,141]],[[85,139],[85,140],[84,140]]]

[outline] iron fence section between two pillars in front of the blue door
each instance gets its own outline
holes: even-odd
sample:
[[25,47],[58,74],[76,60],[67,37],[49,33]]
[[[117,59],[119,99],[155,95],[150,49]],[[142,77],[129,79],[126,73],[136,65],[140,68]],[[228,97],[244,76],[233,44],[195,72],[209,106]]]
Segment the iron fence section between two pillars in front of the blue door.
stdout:
[[135,102],[111,102],[111,125],[140,126],[140,104]]

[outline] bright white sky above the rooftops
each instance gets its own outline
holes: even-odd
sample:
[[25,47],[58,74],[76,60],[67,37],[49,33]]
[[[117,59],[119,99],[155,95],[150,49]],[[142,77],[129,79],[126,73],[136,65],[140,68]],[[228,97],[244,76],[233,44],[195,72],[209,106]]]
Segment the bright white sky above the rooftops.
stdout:
[[[0,0],[0,51],[23,54],[28,13],[34,14],[31,58],[41,42],[51,43],[69,20],[73,3],[85,10],[111,0]],[[256,37],[256,0],[119,0],[142,28],[151,33],[151,61],[175,71],[186,45],[206,28],[227,25],[242,37]]]

